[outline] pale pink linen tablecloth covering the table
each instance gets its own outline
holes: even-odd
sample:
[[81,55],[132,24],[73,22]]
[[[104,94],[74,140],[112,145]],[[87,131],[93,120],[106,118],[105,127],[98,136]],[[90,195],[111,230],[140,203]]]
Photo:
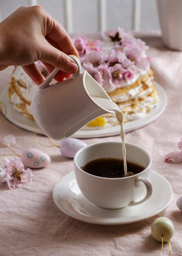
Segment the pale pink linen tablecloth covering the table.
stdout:
[[[32,132],[3,120],[0,138],[13,134],[16,152],[21,153],[27,147],[39,148],[50,155],[51,164],[33,171],[33,181],[18,189],[0,185],[0,255],[156,256],[161,244],[151,236],[151,224],[159,216],[170,218],[175,226],[171,255],[182,255],[182,212],[176,207],[176,200],[182,196],[182,163],[164,162],[166,154],[177,149],[182,137],[182,52],[164,48],[158,34],[140,37],[150,46],[155,81],[166,91],[168,105],[152,124],[127,133],[126,141],[145,148],[152,156],[153,170],[171,183],[174,194],[170,205],[153,218],[126,225],[95,225],[67,216],[55,205],[52,192],[56,182],[73,171],[73,161],[61,156],[58,148],[37,144]],[[0,72],[0,92],[9,83],[11,71],[10,67]],[[44,136],[39,139],[48,143]],[[119,136],[84,139],[88,144],[118,140]],[[0,149],[2,152],[5,150]],[[1,166],[3,163],[4,158],[0,157]],[[168,253],[166,243],[162,255]]]

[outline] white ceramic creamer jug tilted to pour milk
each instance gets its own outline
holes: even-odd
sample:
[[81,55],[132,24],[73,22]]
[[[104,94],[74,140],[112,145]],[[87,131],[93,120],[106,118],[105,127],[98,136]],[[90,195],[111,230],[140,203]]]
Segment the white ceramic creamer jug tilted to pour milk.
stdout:
[[31,102],[37,126],[46,136],[57,140],[70,137],[96,117],[114,113],[111,106],[117,107],[99,83],[86,70],[82,72],[79,59],[70,57],[78,65],[77,73],[50,85],[58,72],[55,68],[37,87]]

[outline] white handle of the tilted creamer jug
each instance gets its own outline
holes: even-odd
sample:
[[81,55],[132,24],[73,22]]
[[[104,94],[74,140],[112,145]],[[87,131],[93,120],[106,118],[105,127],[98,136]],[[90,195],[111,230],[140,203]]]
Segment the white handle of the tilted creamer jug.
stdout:
[[[75,61],[75,63],[77,64],[77,66],[78,66],[78,71],[77,71],[77,73],[72,76],[73,78],[75,78],[75,77],[79,76],[79,75],[81,74],[81,72],[82,72],[81,63],[80,63],[79,58],[77,58],[77,56],[72,55],[72,54],[70,54],[70,55],[68,55],[68,56],[70,56],[70,58],[72,58],[72,59]],[[39,88],[39,89],[43,89],[43,88],[48,87],[49,84],[50,84],[50,82],[53,80],[53,78],[55,77],[55,75],[57,74],[58,71],[59,71],[59,69],[58,69],[57,67],[55,67],[55,69],[53,70],[53,72],[50,73],[50,75],[48,76],[48,78],[47,78],[43,83],[41,83],[38,88]]]

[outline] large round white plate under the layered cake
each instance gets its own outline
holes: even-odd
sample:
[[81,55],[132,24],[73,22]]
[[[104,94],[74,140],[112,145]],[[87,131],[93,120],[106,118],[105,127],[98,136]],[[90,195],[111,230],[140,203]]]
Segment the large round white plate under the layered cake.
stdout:
[[[156,90],[158,92],[159,102],[158,106],[147,113],[143,118],[137,119],[134,121],[129,121],[123,125],[125,132],[131,132],[133,130],[142,128],[147,124],[150,124],[154,120],[156,120],[164,111],[167,105],[167,96],[163,88],[155,82]],[[22,114],[15,111],[15,109],[11,106],[8,98],[8,88],[4,88],[2,93],[0,94],[0,101],[3,101],[7,107],[7,115],[6,118],[13,124],[24,128],[25,130],[35,132],[38,127],[35,124],[34,120],[31,120],[27,117],[24,117]],[[4,114],[5,110],[2,109]],[[79,130],[77,131],[72,137],[74,138],[97,138],[97,137],[107,137],[107,136],[114,136],[120,134],[120,126],[112,126],[105,129],[99,130]],[[42,131],[38,131],[37,133],[43,134]]]

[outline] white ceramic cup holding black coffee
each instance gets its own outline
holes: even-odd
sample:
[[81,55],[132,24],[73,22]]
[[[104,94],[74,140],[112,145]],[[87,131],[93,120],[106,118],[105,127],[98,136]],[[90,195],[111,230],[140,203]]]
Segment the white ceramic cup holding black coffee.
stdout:
[[[123,159],[122,143],[108,141],[81,148],[74,157],[77,184],[83,195],[96,206],[118,209],[135,206],[147,201],[152,194],[151,157],[143,148],[126,143],[126,159],[145,167],[142,172],[122,178],[104,178],[86,173],[81,169],[94,159],[112,157]],[[140,198],[142,197],[142,198]]]

